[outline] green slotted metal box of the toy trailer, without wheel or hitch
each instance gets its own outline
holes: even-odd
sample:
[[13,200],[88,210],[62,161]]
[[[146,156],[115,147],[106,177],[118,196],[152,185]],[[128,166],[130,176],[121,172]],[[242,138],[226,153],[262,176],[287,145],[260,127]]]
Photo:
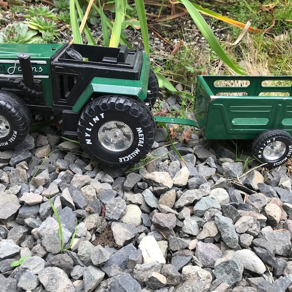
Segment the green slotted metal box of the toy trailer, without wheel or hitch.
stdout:
[[[292,134],[292,86],[278,86],[277,80],[291,81],[292,76],[199,76],[195,116],[204,137],[253,139],[272,128]],[[228,83],[215,86],[218,81]],[[275,81],[275,86],[263,86],[266,81]],[[228,86],[229,82],[233,85]],[[241,92],[247,95],[238,96]],[[259,96],[261,92],[289,92],[290,96]]]

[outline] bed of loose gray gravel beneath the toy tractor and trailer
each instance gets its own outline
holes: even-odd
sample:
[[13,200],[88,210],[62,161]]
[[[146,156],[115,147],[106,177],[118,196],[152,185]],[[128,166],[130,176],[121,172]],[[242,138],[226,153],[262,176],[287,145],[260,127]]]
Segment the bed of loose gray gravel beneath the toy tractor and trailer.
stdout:
[[200,132],[185,165],[164,138],[126,174],[49,127],[0,151],[0,292],[292,291],[287,169],[242,174]]

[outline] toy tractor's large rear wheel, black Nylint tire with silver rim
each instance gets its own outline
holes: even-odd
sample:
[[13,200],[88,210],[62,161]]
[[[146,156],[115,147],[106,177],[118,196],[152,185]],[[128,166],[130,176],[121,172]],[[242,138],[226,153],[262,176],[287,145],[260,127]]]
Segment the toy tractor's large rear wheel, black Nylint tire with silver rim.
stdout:
[[155,130],[153,116],[143,104],[109,95],[86,106],[77,131],[82,148],[99,163],[126,166],[146,156]]

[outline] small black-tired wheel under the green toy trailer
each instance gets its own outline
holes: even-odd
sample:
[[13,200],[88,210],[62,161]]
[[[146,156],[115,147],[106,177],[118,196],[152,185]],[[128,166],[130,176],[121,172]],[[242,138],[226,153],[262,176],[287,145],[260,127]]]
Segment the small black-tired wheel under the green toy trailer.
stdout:
[[292,136],[280,129],[266,130],[255,138],[252,151],[267,166],[284,164],[292,154]]

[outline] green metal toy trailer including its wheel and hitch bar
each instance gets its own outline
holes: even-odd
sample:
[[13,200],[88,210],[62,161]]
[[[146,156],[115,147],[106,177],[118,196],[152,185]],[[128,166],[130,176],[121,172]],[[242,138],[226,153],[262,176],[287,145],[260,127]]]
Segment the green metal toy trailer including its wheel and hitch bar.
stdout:
[[205,139],[253,139],[253,154],[270,167],[291,157],[292,76],[198,76],[194,112],[189,124]]

